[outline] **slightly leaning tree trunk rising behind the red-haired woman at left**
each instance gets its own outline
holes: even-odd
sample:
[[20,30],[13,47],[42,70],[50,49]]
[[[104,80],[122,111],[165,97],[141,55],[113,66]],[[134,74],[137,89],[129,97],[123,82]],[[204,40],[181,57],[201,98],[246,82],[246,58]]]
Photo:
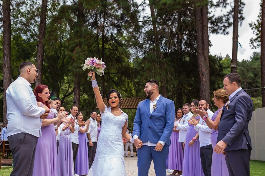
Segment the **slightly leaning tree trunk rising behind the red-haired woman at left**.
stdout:
[[48,0],[42,0],[41,19],[39,23],[39,41],[37,50],[37,69],[38,76],[36,86],[42,84],[42,67],[43,67],[43,55],[44,55],[44,43],[45,28],[46,28],[46,14],[47,14]]

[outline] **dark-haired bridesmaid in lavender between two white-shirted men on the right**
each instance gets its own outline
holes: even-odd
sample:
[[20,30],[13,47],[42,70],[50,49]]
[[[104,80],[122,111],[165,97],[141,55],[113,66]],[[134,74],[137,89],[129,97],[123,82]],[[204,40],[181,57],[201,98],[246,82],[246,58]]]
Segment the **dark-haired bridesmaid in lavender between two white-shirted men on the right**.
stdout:
[[[191,102],[191,112],[194,114],[196,120],[200,120],[201,116],[196,113],[199,101],[193,100]],[[184,159],[183,159],[183,175],[184,176],[204,176],[201,167],[200,155],[200,141],[199,133],[194,129],[194,126],[189,124],[186,139],[183,143],[184,146]],[[177,127],[177,126],[176,126]],[[193,140],[194,139],[194,140]]]

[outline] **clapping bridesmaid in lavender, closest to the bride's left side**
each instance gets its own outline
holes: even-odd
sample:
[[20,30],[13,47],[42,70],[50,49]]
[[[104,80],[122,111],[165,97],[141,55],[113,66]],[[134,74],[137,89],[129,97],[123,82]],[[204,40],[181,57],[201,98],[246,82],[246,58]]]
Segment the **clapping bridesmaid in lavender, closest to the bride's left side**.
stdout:
[[[76,114],[77,121],[83,120],[82,112]],[[88,149],[87,149],[87,131],[90,124],[90,119],[85,122],[85,126],[82,126],[78,131],[79,147],[77,151],[75,161],[75,173],[77,175],[88,174]]]

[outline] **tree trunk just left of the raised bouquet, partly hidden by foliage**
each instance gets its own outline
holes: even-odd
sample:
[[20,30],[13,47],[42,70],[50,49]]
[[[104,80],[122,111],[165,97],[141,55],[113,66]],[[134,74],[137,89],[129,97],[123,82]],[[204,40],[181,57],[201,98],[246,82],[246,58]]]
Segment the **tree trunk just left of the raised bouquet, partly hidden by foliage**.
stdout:
[[[77,31],[78,36],[78,43],[75,48],[82,48],[82,43],[80,42],[80,39],[83,37],[83,27],[84,27],[84,3],[82,0],[78,1],[78,7],[77,7],[77,28],[79,30]],[[74,58],[77,60],[77,58]],[[80,107],[80,73],[77,71],[74,73],[74,106]]]

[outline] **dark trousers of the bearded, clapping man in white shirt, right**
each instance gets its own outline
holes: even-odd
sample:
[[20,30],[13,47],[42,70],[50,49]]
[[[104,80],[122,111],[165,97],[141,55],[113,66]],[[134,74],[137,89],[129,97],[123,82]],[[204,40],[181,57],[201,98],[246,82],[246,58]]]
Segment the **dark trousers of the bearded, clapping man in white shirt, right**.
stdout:
[[201,166],[204,176],[211,176],[213,146],[206,145],[201,147]]

